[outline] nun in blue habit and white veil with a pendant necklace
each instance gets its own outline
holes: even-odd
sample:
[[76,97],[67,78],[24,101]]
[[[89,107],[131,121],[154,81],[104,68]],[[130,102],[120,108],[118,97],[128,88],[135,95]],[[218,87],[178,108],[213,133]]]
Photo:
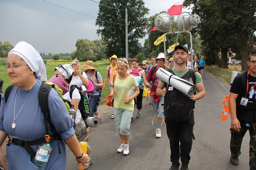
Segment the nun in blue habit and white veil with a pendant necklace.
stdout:
[[[19,42],[9,52],[5,67],[14,85],[8,101],[5,100],[5,93],[2,95],[0,107],[0,146],[7,134],[12,137],[12,143],[6,146],[9,170],[65,169],[67,153],[63,140],[74,153],[76,160],[87,166],[88,155],[83,154],[75,136],[73,121],[54,89],[49,92],[48,108],[51,123],[60,135],[58,143],[61,153],[59,154],[58,151],[57,139],[50,139],[52,152],[47,164],[42,168],[34,165],[34,157],[31,157],[25,150],[23,143],[45,136],[45,117],[39,105],[38,92],[42,81],[47,81],[46,68],[39,53],[24,41]],[[48,128],[50,135],[53,134],[50,123],[48,123]],[[30,147],[37,152],[39,144]]]

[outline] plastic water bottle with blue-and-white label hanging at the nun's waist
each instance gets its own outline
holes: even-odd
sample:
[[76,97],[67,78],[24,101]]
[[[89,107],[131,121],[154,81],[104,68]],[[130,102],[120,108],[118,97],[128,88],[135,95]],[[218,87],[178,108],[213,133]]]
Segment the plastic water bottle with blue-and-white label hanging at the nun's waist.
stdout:
[[38,167],[43,167],[47,164],[50,154],[52,152],[52,145],[50,142],[44,142],[39,145],[37,154],[34,158],[34,164]]

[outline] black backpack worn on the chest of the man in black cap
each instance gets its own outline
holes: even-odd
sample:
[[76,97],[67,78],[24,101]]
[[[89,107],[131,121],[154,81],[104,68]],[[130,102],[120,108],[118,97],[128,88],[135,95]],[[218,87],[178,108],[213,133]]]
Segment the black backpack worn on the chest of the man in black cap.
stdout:
[[[188,69],[189,71],[181,77],[184,80],[189,80],[191,77],[193,80],[193,84],[196,82],[196,76],[195,71]],[[167,71],[171,72],[173,71],[171,69],[167,69]],[[175,74],[174,74],[175,75]],[[193,139],[195,139],[194,134],[190,127],[190,121],[189,118],[191,116],[191,113],[193,111],[193,101],[189,99],[189,97],[185,94],[183,94],[181,91],[175,89],[172,87],[172,90],[168,90],[170,85],[168,85],[167,93],[165,95],[165,106],[164,106],[164,114],[167,119],[178,121],[178,122],[185,122],[187,121],[189,124],[190,132],[193,136]]]

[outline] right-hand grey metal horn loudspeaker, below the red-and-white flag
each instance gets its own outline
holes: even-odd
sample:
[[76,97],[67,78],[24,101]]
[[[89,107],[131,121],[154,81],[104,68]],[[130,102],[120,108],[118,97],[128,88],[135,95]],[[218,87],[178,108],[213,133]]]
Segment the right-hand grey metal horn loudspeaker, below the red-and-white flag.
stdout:
[[197,14],[191,15],[183,12],[177,17],[177,26],[181,31],[190,31],[199,22],[200,17]]

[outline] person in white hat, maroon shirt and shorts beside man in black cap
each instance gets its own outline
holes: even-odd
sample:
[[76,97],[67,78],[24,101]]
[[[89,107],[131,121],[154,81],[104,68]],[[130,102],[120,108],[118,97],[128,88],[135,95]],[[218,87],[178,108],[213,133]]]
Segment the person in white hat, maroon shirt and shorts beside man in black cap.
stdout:
[[[157,62],[157,66],[151,67],[151,69],[148,71],[145,86],[146,86],[146,88],[148,88],[150,86],[149,82],[152,81],[150,96],[151,96],[152,106],[153,106],[155,113],[158,110],[159,105],[161,105],[160,109],[157,112],[157,128],[156,128],[156,138],[160,138],[161,137],[161,126],[162,126],[163,118],[165,117],[165,115],[163,114],[163,103],[164,103],[164,101],[162,101],[163,97],[162,96],[159,97],[156,94],[156,88],[157,88],[157,85],[159,82],[159,79],[156,77],[156,71],[159,68],[165,69],[165,54],[159,53],[158,57],[155,59]],[[153,74],[151,71],[152,69],[154,69]]]

